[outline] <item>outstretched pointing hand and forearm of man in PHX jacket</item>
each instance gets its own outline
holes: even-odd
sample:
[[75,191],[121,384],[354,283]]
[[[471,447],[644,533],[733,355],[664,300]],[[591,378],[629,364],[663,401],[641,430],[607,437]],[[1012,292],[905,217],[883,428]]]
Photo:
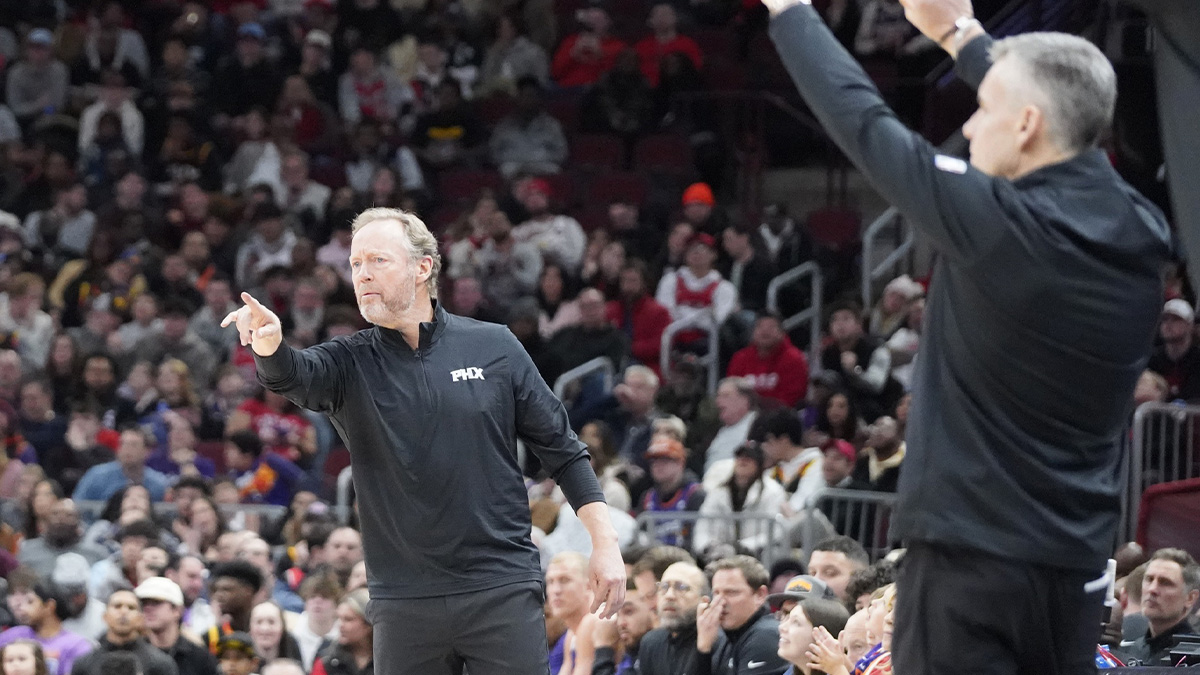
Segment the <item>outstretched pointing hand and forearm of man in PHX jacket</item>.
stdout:
[[242,293],[241,301],[246,304],[229,312],[221,327],[238,327],[239,340],[254,353],[259,382],[308,410],[340,408],[342,370],[332,350],[341,346],[326,342],[298,352],[283,341],[283,324],[275,312],[250,293]]

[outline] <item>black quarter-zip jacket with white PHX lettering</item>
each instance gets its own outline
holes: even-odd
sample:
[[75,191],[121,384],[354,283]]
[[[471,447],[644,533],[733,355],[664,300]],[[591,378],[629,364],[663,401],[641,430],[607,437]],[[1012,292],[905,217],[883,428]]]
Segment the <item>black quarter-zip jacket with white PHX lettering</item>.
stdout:
[[508,328],[434,303],[413,350],[373,327],[256,357],[258,380],[328,413],[350,450],[372,598],[540,581],[516,443],[578,509],[604,501],[563,404]]

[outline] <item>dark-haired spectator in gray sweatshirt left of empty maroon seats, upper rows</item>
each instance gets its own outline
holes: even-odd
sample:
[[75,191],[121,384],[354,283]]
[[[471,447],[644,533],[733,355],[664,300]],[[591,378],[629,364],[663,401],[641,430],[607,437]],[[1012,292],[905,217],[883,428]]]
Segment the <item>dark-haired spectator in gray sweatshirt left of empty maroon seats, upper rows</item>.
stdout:
[[517,82],[516,108],[496,125],[488,149],[492,163],[506,179],[522,173],[562,171],[568,154],[566,137],[558,120],[542,109],[541,84],[536,79],[526,77]]

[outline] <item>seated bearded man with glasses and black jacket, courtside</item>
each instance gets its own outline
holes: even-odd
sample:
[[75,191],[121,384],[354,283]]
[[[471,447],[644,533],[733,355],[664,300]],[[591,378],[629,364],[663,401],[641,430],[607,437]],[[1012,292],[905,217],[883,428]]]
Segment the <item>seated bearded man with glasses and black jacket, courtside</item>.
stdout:
[[685,675],[703,665],[696,650],[696,610],[708,596],[708,577],[690,562],[677,562],[658,584],[659,627],[637,650],[641,675]]

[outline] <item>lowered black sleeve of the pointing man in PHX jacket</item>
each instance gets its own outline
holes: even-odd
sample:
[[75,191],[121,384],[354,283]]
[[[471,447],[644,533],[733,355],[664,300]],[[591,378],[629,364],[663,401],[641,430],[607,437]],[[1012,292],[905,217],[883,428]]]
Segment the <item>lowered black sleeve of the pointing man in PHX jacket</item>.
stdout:
[[563,402],[546,386],[516,336],[508,330],[504,335],[509,342],[517,436],[541,460],[571,508],[580,510],[583,504],[605,501],[587,448],[571,431]]

